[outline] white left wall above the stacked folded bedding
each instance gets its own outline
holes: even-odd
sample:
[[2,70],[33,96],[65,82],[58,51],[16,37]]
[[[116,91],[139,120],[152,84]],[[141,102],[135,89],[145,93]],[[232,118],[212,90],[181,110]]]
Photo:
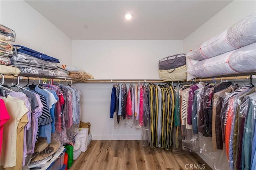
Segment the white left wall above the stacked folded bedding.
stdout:
[[25,1],[1,0],[0,9],[0,23],[16,33],[12,44],[57,58],[61,64],[71,62],[71,39]]

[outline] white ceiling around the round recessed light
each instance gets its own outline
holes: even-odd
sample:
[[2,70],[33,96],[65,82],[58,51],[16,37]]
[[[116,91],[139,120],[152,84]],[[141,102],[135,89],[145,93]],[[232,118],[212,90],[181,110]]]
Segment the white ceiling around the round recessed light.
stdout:
[[[71,39],[181,40],[232,1],[26,1]],[[132,12],[132,20],[124,14]],[[88,25],[89,28],[84,28]]]

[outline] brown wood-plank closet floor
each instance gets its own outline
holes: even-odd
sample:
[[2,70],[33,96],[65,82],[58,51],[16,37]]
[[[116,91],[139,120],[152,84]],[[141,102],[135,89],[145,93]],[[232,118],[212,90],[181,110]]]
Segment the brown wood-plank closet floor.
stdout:
[[143,147],[140,141],[92,141],[69,170],[191,170],[190,164],[212,170],[192,152]]

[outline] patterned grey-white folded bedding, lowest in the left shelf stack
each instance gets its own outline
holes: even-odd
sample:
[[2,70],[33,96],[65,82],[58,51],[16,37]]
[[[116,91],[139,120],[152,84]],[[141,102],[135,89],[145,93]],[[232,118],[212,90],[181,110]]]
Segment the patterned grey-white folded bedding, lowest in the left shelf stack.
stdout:
[[45,75],[45,76],[54,76],[54,77],[68,77],[67,72],[62,70],[51,70],[47,68],[39,67],[19,67],[20,71],[25,74],[36,74],[36,75]]

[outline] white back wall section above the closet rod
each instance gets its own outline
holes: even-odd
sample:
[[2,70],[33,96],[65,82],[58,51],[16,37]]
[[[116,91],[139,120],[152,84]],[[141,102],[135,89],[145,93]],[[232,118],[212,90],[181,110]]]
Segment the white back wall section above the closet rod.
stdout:
[[72,40],[72,64],[95,79],[159,79],[158,60],[178,53],[182,40]]

